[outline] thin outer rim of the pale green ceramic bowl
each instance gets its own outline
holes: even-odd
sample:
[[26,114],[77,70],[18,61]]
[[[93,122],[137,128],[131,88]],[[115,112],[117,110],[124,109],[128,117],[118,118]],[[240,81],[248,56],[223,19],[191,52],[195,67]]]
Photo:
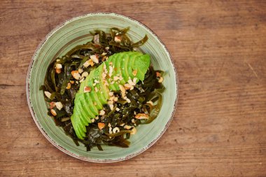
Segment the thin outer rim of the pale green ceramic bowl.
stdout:
[[[39,52],[39,50],[41,50],[41,48],[44,45],[45,41],[47,41],[48,38],[50,38],[50,36],[52,36],[52,34],[55,33],[55,31],[58,31],[59,29],[64,27],[64,25],[66,23],[72,22],[72,21],[76,21],[76,20],[80,19],[81,17],[90,17],[90,16],[93,16],[93,15],[117,15],[117,16],[120,16],[120,17],[127,18],[129,20],[132,20],[134,22],[137,22],[139,25],[141,25],[142,27],[144,27],[145,29],[150,31],[155,36],[155,38],[157,38],[158,41],[160,41],[162,46],[165,48],[165,50],[167,52],[167,55],[169,55],[169,58],[171,60],[172,66],[174,68],[174,73],[175,73],[175,76],[176,76],[176,90],[177,90],[177,92],[176,92],[176,99],[174,101],[174,108],[172,110],[171,118],[169,118],[169,120],[167,121],[167,124],[165,125],[164,129],[162,129],[162,132],[160,132],[160,134],[158,134],[158,136],[156,136],[156,138],[153,139],[153,141],[151,143],[149,143],[148,146],[145,146],[144,148],[141,148],[141,150],[137,151],[137,153],[131,153],[130,155],[126,155],[125,157],[120,157],[120,158],[115,159],[115,160],[97,160],[97,159],[92,159],[90,157],[85,157],[85,156],[82,156],[82,155],[78,155],[76,153],[72,153],[71,151],[66,150],[64,147],[59,146],[59,144],[57,144],[52,138],[50,138],[50,136],[48,136],[48,134],[45,132],[45,130],[41,127],[41,124],[36,119],[36,116],[35,116],[35,113],[34,113],[34,109],[33,109],[32,105],[31,105],[31,99],[29,97],[29,95],[30,95],[29,80],[31,78],[31,69],[33,68],[34,60],[36,60],[35,57],[36,57],[37,53]],[[34,55],[31,57],[31,61],[29,63],[29,68],[28,68],[28,71],[27,71],[27,80],[26,80],[27,104],[29,106],[29,111],[31,112],[31,116],[34,119],[34,122],[36,123],[38,129],[41,131],[43,136],[45,136],[45,138],[48,139],[48,141],[50,143],[52,143],[53,146],[55,146],[57,149],[61,150],[63,153],[66,153],[67,155],[70,155],[70,156],[75,157],[75,158],[77,158],[79,160],[84,160],[84,161],[87,161],[87,162],[98,162],[98,163],[120,162],[120,161],[123,161],[123,160],[128,160],[128,159],[130,159],[132,157],[135,157],[135,156],[143,153],[148,148],[151,148],[151,146],[153,146],[153,144],[160,139],[162,134],[164,134],[166,129],[169,127],[170,123],[172,122],[172,120],[174,118],[174,113],[176,111],[177,103],[178,103],[178,100],[179,100],[179,77],[178,77],[178,73],[177,73],[176,70],[177,69],[174,66],[174,60],[172,59],[172,56],[170,55],[169,50],[167,50],[167,47],[166,47],[165,43],[163,43],[162,40],[150,28],[148,28],[145,24],[139,22],[138,20],[135,20],[132,17],[127,17],[125,15],[120,15],[118,13],[87,13],[85,15],[80,15],[78,17],[71,17],[68,20],[65,20],[64,22],[62,22],[61,24],[58,24],[54,29],[52,29],[45,36],[45,38],[41,41],[41,43],[39,43],[38,47],[36,48],[36,50],[34,52]]]

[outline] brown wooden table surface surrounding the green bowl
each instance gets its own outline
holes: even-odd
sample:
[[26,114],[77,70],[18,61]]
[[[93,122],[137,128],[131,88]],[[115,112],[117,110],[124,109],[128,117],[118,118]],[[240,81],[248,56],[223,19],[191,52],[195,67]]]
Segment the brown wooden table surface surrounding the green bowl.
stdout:
[[[113,164],[65,155],[31,118],[26,74],[48,32],[114,12],[153,29],[179,72],[172,124]],[[265,1],[0,1],[0,176],[266,176]]]

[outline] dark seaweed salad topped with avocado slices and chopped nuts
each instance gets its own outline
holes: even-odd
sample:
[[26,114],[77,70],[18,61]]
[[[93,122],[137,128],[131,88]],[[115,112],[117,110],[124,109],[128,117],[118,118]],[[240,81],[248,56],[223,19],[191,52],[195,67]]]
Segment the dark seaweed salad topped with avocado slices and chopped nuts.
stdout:
[[48,115],[79,146],[128,148],[137,126],[152,122],[162,106],[163,71],[133,43],[130,28],[95,30],[48,66],[41,90]]

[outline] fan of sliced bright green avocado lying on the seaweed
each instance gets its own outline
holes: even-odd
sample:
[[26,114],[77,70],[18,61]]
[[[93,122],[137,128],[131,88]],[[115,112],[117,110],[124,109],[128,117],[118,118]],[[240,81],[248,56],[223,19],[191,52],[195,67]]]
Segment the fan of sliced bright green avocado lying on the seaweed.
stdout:
[[[104,84],[102,73],[104,72],[104,64],[109,71],[110,62],[113,66],[113,75],[111,78],[106,77],[109,86]],[[99,115],[104,104],[107,104],[110,91],[118,91],[119,84],[124,85],[129,77],[137,78],[137,80],[144,80],[148,66],[150,65],[150,55],[143,55],[141,52],[120,52],[112,55],[109,59],[90,72],[89,76],[80,84],[80,89],[76,94],[74,101],[73,115],[71,115],[71,122],[73,128],[78,136],[78,139],[84,139],[87,126],[92,118]],[[137,75],[133,75],[133,71],[137,70]],[[107,73],[109,74],[109,73]],[[122,76],[123,80],[117,80],[117,83],[111,84],[114,76]],[[95,80],[99,81],[96,82]],[[91,87],[90,92],[84,93],[84,87]]]

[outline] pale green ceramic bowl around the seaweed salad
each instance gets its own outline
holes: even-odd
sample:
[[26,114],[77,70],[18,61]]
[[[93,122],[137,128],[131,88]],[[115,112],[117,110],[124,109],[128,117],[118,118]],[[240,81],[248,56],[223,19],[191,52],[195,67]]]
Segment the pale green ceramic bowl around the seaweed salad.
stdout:
[[[64,55],[74,46],[90,40],[92,38],[90,31],[101,29],[108,32],[111,27],[130,27],[128,34],[132,41],[139,41],[145,34],[148,35],[148,41],[141,46],[141,50],[151,55],[151,63],[155,69],[165,71],[163,84],[166,90],[163,93],[163,104],[158,118],[151,124],[137,127],[137,134],[130,138],[130,148],[103,146],[104,151],[92,148],[90,152],[87,152],[83,145],[76,146],[71,138],[64,134],[63,129],[55,126],[52,118],[48,117],[47,105],[43,98],[43,92],[39,90],[39,87],[43,85],[46,69],[53,59]],[[169,126],[176,108],[177,96],[177,73],[165,45],[144,24],[115,13],[90,13],[74,17],[60,24],[38,46],[29,64],[27,75],[29,109],[45,138],[64,153],[90,162],[127,160],[151,147]]]

